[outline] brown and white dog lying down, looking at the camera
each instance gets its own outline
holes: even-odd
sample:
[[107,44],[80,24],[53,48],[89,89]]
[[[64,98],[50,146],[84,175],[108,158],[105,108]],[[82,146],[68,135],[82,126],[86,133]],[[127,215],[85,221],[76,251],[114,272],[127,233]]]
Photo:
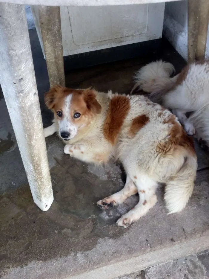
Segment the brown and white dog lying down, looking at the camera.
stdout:
[[64,153],[82,161],[119,159],[127,173],[125,187],[97,202],[103,209],[139,193],[139,203],[117,224],[127,227],[152,208],[158,183],[165,183],[169,213],[181,211],[193,191],[197,158],[193,141],[170,111],[144,96],[102,93],[55,86],[45,94],[54,123],[45,137],[59,132]]

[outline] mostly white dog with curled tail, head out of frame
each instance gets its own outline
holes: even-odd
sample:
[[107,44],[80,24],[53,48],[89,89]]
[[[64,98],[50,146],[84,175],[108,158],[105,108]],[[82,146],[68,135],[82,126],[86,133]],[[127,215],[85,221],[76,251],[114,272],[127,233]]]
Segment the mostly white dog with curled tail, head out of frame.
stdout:
[[[186,132],[196,134],[209,147],[209,62],[188,64],[171,78],[174,71],[172,64],[162,61],[142,67],[131,93],[137,87],[151,93],[151,100],[172,109]],[[189,118],[187,112],[193,112]]]

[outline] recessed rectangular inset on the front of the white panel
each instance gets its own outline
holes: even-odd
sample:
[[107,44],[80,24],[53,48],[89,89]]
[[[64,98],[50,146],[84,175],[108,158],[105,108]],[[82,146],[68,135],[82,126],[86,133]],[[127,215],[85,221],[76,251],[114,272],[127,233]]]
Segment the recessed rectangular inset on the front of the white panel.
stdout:
[[68,7],[68,13],[75,45],[88,45],[147,31],[148,5]]

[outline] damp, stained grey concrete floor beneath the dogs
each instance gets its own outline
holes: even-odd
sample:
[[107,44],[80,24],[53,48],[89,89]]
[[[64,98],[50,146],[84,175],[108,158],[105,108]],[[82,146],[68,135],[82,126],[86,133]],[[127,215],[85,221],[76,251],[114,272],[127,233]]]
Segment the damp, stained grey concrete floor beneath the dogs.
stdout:
[[[52,115],[43,101],[43,93],[49,88],[46,64],[36,32],[29,33],[43,123],[48,126]],[[159,58],[172,62],[177,72],[184,65],[182,58],[163,41],[160,51],[143,58],[72,71],[66,74],[66,85],[129,93],[133,73]],[[46,143],[55,200],[49,211],[42,212],[33,203],[0,96],[0,278],[208,278],[207,251],[189,257],[186,267],[182,262],[185,260],[173,261],[209,248],[209,157],[198,144],[197,180],[185,210],[167,216],[163,191],[159,189],[156,206],[139,222],[122,229],[115,222],[133,208],[137,196],[106,212],[96,206],[97,200],[123,187],[119,165],[110,162],[105,168],[96,168],[74,160],[63,153],[59,138],[51,136]],[[168,261],[171,262],[157,265]],[[184,274],[192,270],[191,262],[193,275],[186,277]],[[197,268],[205,277],[195,275]],[[172,277],[177,276],[176,270],[179,277]],[[135,273],[124,277],[131,272]]]

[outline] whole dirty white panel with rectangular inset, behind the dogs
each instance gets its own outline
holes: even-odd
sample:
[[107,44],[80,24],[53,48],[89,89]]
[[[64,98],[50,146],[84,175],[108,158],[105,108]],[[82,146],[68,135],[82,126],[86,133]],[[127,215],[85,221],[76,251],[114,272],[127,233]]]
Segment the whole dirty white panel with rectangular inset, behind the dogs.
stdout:
[[165,3],[61,7],[64,56],[157,39]]

